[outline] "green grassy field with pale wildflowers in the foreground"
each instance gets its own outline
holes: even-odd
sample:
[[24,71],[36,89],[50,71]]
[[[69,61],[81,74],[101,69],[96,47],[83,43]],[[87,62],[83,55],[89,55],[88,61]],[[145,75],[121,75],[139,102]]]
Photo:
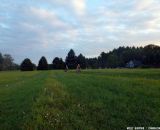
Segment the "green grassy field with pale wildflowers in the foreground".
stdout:
[[160,70],[0,72],[1,130],[160,126]]

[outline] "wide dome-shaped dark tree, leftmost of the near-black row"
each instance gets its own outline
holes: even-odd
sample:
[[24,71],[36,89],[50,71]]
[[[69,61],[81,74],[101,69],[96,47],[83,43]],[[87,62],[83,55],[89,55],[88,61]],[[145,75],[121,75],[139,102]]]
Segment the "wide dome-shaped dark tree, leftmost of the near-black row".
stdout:
[[33,71],[34,65],[32,64],[31,60],[26,58],[20,65],[21,71]]

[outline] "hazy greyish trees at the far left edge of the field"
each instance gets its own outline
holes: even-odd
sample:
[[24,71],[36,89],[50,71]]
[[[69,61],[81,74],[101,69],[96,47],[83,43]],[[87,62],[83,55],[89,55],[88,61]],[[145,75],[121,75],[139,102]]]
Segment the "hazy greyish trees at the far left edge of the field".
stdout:
[[0,71],[18,70],[19,65],[13,62],[10,54],[0,53]]

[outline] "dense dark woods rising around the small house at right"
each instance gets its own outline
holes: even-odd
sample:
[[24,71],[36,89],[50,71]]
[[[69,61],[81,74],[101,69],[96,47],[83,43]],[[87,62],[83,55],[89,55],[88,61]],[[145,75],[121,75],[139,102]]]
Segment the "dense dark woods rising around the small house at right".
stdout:
[[108,53],[102,52],[98,58],[92,60],[95,60],[96,68],[128,67],[131,61],[134,67],[160,67],[160,47],[119,47]]

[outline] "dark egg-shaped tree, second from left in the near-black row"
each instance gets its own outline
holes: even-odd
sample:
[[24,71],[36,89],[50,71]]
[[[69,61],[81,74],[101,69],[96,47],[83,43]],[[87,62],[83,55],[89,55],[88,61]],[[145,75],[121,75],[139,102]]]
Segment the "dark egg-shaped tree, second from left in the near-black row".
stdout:
[[38,70],[48,70],[48,62],[44,56],[39,60]]

